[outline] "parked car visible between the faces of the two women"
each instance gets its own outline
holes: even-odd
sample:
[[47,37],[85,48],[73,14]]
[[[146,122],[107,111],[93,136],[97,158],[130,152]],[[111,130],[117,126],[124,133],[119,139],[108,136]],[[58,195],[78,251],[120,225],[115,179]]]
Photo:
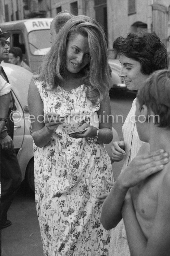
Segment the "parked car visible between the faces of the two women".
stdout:
[[119,62],[119,59],[109,59],[108,64],[112,70],[111,88],[127,90],[126,85],[124,84],[123,78],[119,76],[119,72],[121,70],[121,64]]

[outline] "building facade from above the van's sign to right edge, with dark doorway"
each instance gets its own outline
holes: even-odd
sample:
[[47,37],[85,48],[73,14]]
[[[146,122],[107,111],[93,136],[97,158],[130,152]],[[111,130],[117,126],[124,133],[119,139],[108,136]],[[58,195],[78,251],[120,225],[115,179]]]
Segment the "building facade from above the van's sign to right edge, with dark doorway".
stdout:
[[129,32],[155,32],[170,52],[170,0],[51,0],[52,17],[63,10],[100,22],[111,58],[114,39]]

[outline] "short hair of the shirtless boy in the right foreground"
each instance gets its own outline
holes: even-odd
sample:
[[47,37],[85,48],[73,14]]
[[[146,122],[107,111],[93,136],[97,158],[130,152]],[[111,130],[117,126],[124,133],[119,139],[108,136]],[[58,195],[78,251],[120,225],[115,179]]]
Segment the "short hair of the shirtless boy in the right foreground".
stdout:
[[154,112],[157,126],[170,128],[170,70],[151,74],[138,90],[137,98],[140,110],[145,104]]

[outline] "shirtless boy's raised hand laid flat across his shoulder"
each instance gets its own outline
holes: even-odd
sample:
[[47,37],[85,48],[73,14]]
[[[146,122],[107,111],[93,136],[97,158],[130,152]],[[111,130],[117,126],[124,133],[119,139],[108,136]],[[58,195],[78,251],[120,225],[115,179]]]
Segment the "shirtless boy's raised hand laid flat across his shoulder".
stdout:
[[119,182],[124,189],[134,187],[148,176],[163,170],[168,162],[169,154],[163,149],[138,155],[121,172],[116,182]]

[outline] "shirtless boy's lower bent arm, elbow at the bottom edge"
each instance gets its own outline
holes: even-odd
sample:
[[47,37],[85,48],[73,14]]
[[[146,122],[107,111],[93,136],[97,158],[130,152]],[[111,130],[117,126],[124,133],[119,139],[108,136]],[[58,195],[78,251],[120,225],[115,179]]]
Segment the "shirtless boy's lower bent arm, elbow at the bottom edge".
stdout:
[[158,194],[158,208],[151,234],[146,238],[139,226],[133,204],[125,200],[122,215],[125,223],[131,256],[170,255],[170,172],[164,176]]

